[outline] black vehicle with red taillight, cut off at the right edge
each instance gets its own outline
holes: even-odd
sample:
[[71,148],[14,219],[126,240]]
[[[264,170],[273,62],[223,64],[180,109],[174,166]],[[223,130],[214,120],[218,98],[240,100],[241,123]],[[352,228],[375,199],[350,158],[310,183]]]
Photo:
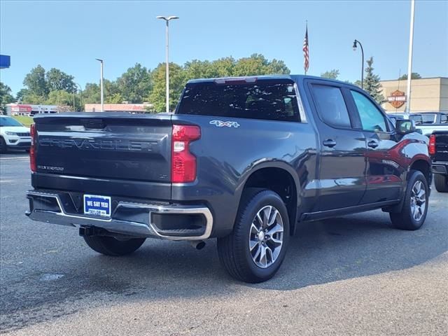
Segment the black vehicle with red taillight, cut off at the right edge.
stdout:
[[433,161],[435,189],[448,193],[448,130],[435,131],[430,135],[429,153]]

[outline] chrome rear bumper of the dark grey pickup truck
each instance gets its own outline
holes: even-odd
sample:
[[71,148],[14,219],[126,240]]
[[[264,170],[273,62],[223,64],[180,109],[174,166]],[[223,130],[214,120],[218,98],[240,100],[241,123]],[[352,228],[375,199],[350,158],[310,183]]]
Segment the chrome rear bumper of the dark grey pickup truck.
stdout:
[[[30,190],[27,193],[33,221],[102,228],[111,233],[169,240],[202,240],[211,235],[213,216],[208,207],[183,204],[118,201],[111,218],[80,213],[68,193]],[[173,226],[174,225],[174,226]]]

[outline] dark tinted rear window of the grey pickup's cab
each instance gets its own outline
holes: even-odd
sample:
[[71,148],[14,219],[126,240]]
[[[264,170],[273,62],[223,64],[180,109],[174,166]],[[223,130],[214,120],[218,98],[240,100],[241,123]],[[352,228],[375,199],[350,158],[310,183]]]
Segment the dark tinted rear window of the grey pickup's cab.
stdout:
[[190,83],[176,113],[229,118],[300,121],[294,83],[258,80],[256,83]]

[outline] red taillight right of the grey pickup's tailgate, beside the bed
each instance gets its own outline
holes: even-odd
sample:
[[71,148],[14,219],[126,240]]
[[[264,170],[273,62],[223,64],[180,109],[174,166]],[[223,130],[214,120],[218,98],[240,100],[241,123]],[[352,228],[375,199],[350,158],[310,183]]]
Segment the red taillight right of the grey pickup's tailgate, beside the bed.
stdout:
[[193,182],[196,179],[196,157],[190,153],[190,143],[200,139],[201,129],[192,125],[173,125],[172,183]]

